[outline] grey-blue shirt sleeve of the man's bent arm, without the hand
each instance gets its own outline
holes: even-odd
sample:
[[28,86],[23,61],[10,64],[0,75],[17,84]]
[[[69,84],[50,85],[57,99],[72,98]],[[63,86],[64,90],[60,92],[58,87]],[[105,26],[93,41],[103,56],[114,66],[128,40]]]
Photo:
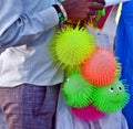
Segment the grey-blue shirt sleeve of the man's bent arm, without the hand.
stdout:
[[0,0],[0,49],[31,43],[59,23],[53,7],[28,14],[21,0]]

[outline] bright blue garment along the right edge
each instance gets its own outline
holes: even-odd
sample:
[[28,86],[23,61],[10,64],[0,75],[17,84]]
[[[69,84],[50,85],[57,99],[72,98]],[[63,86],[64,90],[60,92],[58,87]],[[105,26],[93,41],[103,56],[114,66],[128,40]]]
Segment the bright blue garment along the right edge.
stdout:
[[122,65],[122,79],[126,79],[131,94],[130,103],[123,109],[129,129],[133,129],[133,0],[123,3],[116,30],[115,54]]

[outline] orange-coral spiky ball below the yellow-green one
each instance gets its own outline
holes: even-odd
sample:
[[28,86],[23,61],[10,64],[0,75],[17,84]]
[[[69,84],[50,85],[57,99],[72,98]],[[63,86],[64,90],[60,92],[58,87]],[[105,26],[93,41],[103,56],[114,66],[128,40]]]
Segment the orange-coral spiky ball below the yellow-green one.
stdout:
[[115,56],[105,49],[98,47],[92,56],[81,65],[81,73],[86,80],[95,86],[106,86],[116,76]]

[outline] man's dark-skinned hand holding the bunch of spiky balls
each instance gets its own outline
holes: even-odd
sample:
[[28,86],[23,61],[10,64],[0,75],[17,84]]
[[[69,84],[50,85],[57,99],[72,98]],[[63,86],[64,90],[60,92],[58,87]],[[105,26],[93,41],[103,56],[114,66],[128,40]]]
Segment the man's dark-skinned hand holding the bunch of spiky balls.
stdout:
[[104,8],[104,0],[65,0],[62,6],[69,20],[88,20],[90,15]]

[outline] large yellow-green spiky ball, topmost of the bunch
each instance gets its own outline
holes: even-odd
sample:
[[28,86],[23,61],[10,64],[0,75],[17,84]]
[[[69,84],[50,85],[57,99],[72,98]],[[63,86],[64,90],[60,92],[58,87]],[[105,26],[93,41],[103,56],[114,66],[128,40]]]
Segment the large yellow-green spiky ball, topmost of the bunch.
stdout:
[[94,51],[95,37],[85,29],[68,26],[52,39],[51,51],[54,61],[63,67],[81,64]]

